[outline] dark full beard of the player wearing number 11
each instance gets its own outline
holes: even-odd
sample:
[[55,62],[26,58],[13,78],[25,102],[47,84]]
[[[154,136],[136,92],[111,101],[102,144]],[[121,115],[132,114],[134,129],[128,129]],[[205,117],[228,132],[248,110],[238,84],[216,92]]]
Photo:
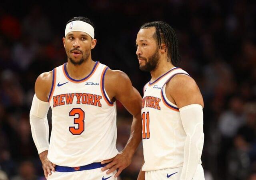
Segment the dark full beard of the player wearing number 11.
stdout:
[[142,58],[145,60],[145,65],[144,66],[140,65],[140,70],[147,71],[147,72],[153,71],[158,67],[158,62],[160,58],[158,54],[158,48],[156,48],[156,51],[152,56],[148,58],[148,60],[146,58],[141,57],[140,55],[138,56],[138,58]]

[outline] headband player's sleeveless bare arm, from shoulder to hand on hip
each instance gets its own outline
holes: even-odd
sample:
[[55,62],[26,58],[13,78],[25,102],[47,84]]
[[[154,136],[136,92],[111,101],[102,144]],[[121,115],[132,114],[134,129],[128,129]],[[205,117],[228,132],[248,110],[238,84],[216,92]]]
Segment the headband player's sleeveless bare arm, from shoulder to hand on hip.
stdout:
[[[113,86],[113,82],[117,86]],[[141,141],[142,124],[141,124],[141,105],[142,97],[139,92],[132,86],[132,83],[128,76],[121,71],[108,70],[106,73],[105,89],[110,99],[119,100],[124,107],[132,114],[132,126],[130,132],[130,138],[122,152],[120,152],[115,158],[105,160],[102,163],[109,163],[102,170],[110,169],[107,173],[113,172],[116,168],[119,168],[116,173],[116,177],[126,168],[132,160],[132,156],[135,153],[138,145]]]

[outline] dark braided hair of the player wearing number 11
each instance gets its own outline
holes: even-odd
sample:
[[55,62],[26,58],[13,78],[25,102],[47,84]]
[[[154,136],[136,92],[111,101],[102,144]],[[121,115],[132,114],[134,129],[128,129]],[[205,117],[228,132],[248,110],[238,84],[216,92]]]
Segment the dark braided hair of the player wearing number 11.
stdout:
[[150,27],[156,28],[156,33],[154,36],[158,40],[159,49],[162,49],[161,44],[162,40],[164,40],[164,43],[166,44],[168,49],[167,61],[169,57],[171,57],[172,64],[174,66],[177,66],[180,63],[181,59],[179,54],[178,39],[173,28],[166,22],[154,21],[143,24],[140,29],[146,29]]

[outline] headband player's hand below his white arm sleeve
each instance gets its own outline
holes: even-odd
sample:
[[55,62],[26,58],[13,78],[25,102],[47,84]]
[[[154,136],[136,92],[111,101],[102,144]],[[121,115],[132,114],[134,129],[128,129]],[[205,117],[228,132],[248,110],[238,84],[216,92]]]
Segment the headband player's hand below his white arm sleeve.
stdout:
[[39,158],[42,162],[43,165],[43,170],[44,170],[44,176],[47,179],[48,175],[52,175],[52,171],[55,171],[55,164],[50,162],[47,158],[48,150],[43,151],[39,154]]

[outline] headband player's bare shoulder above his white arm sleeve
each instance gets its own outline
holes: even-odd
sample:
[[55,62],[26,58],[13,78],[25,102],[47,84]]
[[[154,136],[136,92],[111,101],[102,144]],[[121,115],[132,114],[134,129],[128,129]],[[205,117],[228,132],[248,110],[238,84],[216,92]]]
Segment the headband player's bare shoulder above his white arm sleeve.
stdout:
[[42,100],[47,101],[48,94],[50,93],[52,87],[52,76],[53,72],[44,72],[38,76],[35,83],[35,93],[36,96]]

